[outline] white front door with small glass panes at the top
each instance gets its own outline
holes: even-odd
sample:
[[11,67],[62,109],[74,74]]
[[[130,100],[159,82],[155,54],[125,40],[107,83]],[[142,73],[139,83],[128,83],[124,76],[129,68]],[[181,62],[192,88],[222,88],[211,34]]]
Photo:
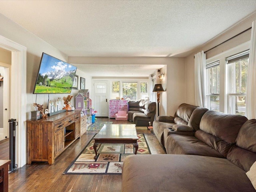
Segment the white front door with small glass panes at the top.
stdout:
[[108,117],[108,81],[95,80],[94,86],[94,110],[97,110],[96,116]]

